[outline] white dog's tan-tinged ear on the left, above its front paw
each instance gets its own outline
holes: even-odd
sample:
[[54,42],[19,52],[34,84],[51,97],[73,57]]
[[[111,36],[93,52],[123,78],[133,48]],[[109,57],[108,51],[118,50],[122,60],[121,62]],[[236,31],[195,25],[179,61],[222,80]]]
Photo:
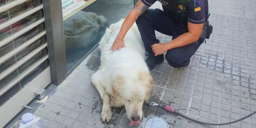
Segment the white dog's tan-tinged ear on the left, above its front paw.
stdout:
[[112,98],[117,101],[119,99],[119,90],[124,85],[124,77],[117,76],[112,86]]

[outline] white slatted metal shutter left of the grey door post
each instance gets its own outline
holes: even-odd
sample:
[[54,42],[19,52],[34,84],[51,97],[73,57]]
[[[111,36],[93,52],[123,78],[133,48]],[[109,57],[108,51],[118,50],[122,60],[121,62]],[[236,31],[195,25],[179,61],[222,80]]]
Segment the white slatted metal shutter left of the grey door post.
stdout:
[[[3,105],[49,67],[44,21],[42,0],[0,3],[0,113]],[[0,120],[0,127],[7,123]]]

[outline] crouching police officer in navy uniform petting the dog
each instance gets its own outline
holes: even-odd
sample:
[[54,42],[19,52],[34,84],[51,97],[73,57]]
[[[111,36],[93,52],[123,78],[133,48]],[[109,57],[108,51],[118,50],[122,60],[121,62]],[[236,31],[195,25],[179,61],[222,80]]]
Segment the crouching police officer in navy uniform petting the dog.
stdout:
[[[164,61],[172,67],[187,66],[190,57],[204,40],[199,37],[208,16],[207,0],[158,0],[160,9],[148,9],[156,0],[138,0],[125,18],[111,50],[125,47],[123,39],[136,21],[145,50],[148,52],[146,63],[150,70]],[[159,42],[155,30],[172,36],[167,43]]]

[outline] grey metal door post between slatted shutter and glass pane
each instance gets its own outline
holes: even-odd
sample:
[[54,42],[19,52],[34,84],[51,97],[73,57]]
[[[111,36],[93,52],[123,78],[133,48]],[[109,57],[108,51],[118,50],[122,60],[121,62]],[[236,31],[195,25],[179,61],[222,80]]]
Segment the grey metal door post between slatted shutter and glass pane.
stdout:
[[43,0],[43,5],[51,81],[52,84],[59,85],[65,80],[67,74],[62,4],[61,0]]

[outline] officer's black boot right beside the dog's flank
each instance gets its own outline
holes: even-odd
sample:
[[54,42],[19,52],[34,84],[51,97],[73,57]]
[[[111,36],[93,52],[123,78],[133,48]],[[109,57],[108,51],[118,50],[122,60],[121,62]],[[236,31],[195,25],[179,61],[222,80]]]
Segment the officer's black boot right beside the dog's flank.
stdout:
[[161,64],[164,62],[164,54],[155,56],[154,53],[149,53],[146,59],[147,66],[149,70],[153,70],[156,64]]

